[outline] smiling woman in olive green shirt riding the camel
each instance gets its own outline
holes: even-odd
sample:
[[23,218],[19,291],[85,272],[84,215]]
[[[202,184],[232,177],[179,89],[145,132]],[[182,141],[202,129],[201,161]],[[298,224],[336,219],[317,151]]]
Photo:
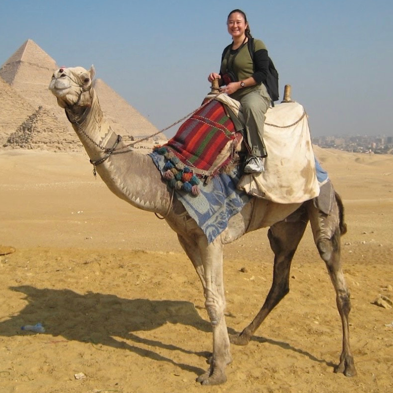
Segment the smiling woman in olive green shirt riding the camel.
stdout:
[[262,158],[266,157],[263,143],[265,113],[271,105],[265,82],[269,57],[265,44],[254,39],[254,56],[250,55],[247,42],[252,38],[246,14],[240,9],[231,11],[226,25],[232,36],[221,57],[220,73],[211,73],[208,81],[219,78],[220,91],[240,101],[246,120],[246,136],[251,153],[246,161],[245,173],[263,171]]

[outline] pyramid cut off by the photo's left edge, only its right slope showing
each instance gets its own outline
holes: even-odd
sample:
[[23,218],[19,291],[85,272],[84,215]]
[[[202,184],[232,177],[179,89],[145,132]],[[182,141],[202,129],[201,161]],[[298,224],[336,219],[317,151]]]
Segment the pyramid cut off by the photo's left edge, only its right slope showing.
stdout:
[[34,112],[34,108],[0,78],[0,146],[18,126]]

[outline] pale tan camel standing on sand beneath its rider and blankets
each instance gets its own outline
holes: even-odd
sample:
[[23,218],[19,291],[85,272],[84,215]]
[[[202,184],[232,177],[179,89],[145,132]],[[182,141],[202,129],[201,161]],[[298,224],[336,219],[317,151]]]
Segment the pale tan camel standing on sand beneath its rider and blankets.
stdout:
[[[341,317],[342,352],[334,371],[346,376],[356,375],[349,344],[350,295],[340,262],[340,236],[346,232],[346,225],[338,194],[335,194],[335,203],[328,215],[317,209],[312,200],[278,204],[254,197],[229,220],[221,235],[209,243],[176,198],[176,193],[169,191],[151,158],[130,149],[105,121],[94,91],[94,74],[93,66],[89,70],[83,67],[59,68],[53,74],[49,89],[56,96],[58,105],[65,110],[90,162],[109,189],[139,209],[162,215],[177,233],[182,248],[193,263],[202,283],[205,308],[213,332],[209,367],[197,377],[197,382],[202,385],[224,383],[225,367],[232,362],[230,343],[248,344],[270,311],[289,292],[291,261],[308,222],[336,290]],[[268,238],[275,254],[272,286],[253,321],[242,332],[229,337],[224,315],[224,245],[262,227],[270,227]]]

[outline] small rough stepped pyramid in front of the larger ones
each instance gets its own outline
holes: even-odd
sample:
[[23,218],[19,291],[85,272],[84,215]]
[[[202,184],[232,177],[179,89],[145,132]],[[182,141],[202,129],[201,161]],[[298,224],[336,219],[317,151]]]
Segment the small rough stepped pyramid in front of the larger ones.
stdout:
[[39,107],[7,138],[4,147],[78,151],[83,146],[73,129],[59,124],[54,113]]

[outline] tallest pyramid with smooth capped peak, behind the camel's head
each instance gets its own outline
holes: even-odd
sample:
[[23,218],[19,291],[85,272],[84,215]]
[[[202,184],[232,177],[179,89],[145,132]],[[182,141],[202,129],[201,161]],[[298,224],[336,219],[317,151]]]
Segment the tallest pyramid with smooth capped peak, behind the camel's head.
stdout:
[[[67,127],[70,132],[73,132],[71,125],[64,115],[64,110],[57,105],[56,98],[48,89],[52,74],[57,68],[56,61],[34,41],[28,39],[1,66],[0,77],[11,86],[17,95],[25,100],[25,109],[28,108],[28,105],[32,108],[32,110],[28,108],[28,111],[31,112],[26,115],[26,111],[24,112],[20,109],[20,106],[16,107],[15,111],[19,111],[19,117],[26,120],[28,115],[37,111],[39,107],[42,107],[41,112],[43,116],[48,113],[51,116],[54,115],[59,127]],[[148,136],[158,132],[153,124],[105,84],[104,81],[98,81],[97,85],[97,93],[103,112],[108,117],[113,130],[122,135],[125,140],[130,140],[133,137]],[[0,141],[1,135],[3,137],[5,135],[1,132],[2,128],[5,127],[8,130],[7,137],[10,133],[16,131],[13,128],[14,123],[7,125],[10,122],[9,113],[10,111],[0,112],[0,125],[2,124],[0,126]],[[15,115],[13,115],[13,118],[16,118]],[[50,123],[52,123],[52,120]],[[167,139],[163,134],[158,137]],[[33,146],[35,145],[33,144]],[[50,146],[50,144],[47,144],[47,146]]]

